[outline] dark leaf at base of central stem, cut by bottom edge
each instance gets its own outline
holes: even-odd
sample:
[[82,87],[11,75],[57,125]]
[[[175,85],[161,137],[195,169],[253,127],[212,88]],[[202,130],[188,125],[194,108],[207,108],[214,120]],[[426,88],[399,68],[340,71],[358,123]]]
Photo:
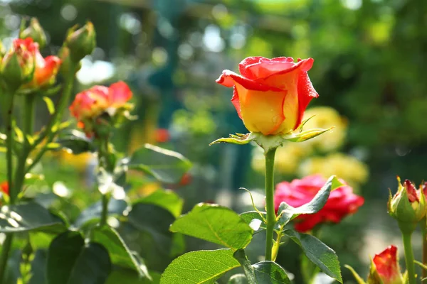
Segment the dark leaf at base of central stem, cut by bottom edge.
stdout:
[[290,284],[286,271],[274,261],[261,261],[252,267],[257,283]]

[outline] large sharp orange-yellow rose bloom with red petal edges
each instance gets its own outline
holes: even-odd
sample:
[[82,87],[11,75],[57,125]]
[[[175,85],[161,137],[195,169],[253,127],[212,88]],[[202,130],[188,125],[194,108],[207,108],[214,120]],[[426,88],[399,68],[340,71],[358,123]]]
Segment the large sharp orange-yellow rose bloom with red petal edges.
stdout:
[[312,58],[251,57],[238,68],[241,75],[224,70],[218,84],[233,87],[231,102],[246,129],[263,135],[285,134],[300,126],[315,91],[307,71]]

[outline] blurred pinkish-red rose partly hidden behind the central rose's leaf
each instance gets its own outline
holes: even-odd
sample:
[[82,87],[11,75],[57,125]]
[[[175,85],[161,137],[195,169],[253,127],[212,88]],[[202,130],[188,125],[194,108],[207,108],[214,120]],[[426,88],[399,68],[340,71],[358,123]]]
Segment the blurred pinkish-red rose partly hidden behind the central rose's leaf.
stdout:
[[[325,185],[326,179],[321,175],[310,175],[301,180],[280,182],[275,190],[275,210],[281,202],[292,207],[300,207],[310,202],[317,192]],[[330,193],[325,207],[315,214],[300,215],[295,219],[297,231],[310,231],[317,224],[324,222],[339,223],[344,217],[357,212],[364,203],[364,198],[354,195],[352,187],[344,185]]]

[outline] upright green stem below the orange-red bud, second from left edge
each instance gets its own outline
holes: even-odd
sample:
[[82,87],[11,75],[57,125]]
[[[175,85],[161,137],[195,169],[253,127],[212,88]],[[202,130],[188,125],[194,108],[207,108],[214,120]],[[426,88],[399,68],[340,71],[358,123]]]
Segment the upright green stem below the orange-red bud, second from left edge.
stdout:
[[34,110],[35,110],[35,102],[36,102],[35,94],[28,94],[24,97],[24,108],[23,108],[23,147],[21,151],[21,155],[19,156],[18,165],[16,166],[15,173],[15,192],[14,198],[18,199],[19,192],[22,191],[22,187],[25,181],[26,173],[26,160],[28,155],[31,153],[32,145],[28,140],[28,136],[33,135],[34,128]]

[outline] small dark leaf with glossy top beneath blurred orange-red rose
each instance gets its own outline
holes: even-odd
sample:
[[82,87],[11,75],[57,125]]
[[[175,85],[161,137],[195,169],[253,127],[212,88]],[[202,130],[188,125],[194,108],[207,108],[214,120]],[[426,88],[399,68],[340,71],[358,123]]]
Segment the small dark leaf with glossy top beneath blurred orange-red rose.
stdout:
[[67,150],[73,154],[80,154],[94,150],[92,141],[85,133],[77,130],[65,131],[58,136],[56,141],[59,147],[53,150]]

